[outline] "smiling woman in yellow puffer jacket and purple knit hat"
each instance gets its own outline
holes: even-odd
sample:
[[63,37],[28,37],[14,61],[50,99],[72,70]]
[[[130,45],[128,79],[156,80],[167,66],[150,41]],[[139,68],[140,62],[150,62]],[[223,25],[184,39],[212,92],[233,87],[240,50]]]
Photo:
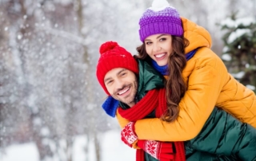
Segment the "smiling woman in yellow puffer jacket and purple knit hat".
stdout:
[[138,58],[168,77],[168,112],[162,120],[134,122],[138,139],[194,139],[215,105],[256,128],[254,92],[235,81],[222,60],[210,50],[210,34],[206,29],[180,18],[177,10],[160,0],[153,2],[139,24],[143,45],[138,47]]

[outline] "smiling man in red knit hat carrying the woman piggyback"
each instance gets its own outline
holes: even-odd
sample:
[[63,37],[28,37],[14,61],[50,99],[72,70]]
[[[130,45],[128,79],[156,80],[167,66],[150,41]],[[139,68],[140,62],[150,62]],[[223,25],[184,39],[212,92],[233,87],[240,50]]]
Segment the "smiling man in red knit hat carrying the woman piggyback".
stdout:
[[[134,57],[116,42],[110,41],[103,44],[100,53],[97,77],[102,88],[110,96],[103,108],[110,116],[117,115],[119,124],[122,128],[125,127],[122,130],[122,141],[130,147],[136,147],[137,143],[138,147],[146,151],[144,154],[142,150],[138,150],[137,160],[185,160],[182,142],[139,140],[135,135],[133,124],[127,124],[129,123],[127,120],[136,121],[146,117],[159,118],[166,112],[162,75],[146,62],[135,61]],[[112,98],[120,101],[120,108],[115,108],[118,106]],[[128,126],[123,124],[123,118],[126,118],[125,123]],[[232,124],[236,126],[231,127]],[[243,128],[245,126],[246,128]],[[222,132],[225,133],[222,134]],[[186,160],[256,159],[255,136],[255,129],[250,125],[247,127],[247,124],[242,124],[226,112],[214,108],[214,112],[207,120],[202,132],[194,139],[186,141]],[[229,137],[232,140],[226,139]],[[136,142],[137,139],[138,142]],[[232,148],[226,145],[230,145]],[[209,151],[211,154],[204,151]],[[254,155],[248,155],[248,151]]]

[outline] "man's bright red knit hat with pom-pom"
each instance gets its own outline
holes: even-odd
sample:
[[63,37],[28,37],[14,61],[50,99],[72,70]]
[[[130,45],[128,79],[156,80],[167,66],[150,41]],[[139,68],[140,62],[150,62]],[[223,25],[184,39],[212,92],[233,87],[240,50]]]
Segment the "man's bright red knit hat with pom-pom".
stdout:
[[96,75],[99,84],[102,85],[107,95],[110,95],[110,93],[104,84],[104,77],[111,69],[124,68],[138,74],[137,61],[135,61],[131,53],[119,46],[117,42],[106,41],[101,45],[99,53],[101,56],[98,59]]

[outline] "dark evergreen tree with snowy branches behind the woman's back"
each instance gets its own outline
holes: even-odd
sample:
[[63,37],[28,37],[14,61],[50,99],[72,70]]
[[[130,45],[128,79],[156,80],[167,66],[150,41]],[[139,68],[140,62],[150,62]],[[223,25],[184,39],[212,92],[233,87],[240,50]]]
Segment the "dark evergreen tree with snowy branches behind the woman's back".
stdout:
[[256,21],[236,16],[221,24],[226,31],[222,60],[235,79],[256,92]]

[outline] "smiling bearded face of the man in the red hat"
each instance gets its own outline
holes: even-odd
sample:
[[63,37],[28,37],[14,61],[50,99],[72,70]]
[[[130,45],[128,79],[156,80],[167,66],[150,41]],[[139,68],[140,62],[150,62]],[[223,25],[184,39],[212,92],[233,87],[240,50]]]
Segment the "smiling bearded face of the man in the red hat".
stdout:
[[112,69],[106,73],[104,84],[115,100],[119,100],[130,107],[134,106],[138,88],[134,72],[123,68]]

